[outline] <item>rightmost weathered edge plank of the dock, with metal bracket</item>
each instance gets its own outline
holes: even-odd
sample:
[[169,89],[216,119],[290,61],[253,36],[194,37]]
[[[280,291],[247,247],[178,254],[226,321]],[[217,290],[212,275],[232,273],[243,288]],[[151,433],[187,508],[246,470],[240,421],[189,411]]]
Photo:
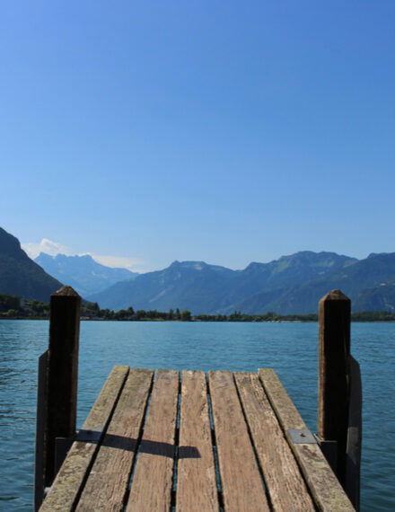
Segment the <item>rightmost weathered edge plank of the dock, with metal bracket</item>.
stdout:
[[304,479],[317,508],[326,512],[355,510],[322,454],[320,446],[317,444],[294,444],[290,439],[287,433],[288,429],[304,429],[307,427],[275,371],[260,368],[259,378],[303,471]]

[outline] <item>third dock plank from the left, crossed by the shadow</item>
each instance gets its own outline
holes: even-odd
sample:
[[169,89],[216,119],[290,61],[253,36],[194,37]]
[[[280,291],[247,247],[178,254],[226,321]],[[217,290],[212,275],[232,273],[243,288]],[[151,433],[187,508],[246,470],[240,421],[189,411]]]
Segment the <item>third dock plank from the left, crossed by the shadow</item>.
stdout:
[[145,420],[127,511],[169,510],[179,372],[158,370]]

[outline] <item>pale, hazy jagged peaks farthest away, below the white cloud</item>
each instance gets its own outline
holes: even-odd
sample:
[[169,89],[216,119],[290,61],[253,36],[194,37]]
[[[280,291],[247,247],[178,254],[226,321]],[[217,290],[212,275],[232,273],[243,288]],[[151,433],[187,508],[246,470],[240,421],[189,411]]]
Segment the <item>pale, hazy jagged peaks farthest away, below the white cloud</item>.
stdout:
[[89,296],[101,292],[101,290],[127,279],[133,279],[137,276],[136,272],[127,269],[113,269],[101,265],[93,260],[92,256],[85,254],[83,256],[66,256],[57,254],[50,256],[45,252],[40,252],[35,258],[48,274],[62,280],[81,296]]

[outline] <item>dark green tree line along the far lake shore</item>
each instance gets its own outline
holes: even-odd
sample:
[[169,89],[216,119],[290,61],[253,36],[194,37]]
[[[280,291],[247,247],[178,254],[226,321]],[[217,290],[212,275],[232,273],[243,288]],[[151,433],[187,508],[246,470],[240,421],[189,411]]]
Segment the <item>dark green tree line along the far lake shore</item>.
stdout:
[[[47,320],[49,318],[49,304],[38,300],[25,300],[20,296],[0,294],[0,319],[31,319]],[[168,312],[156,310],[120,309],[115,312],[110,309],[101,309],[97,303],[83,301],[81,305],[82,320],[108,320],[108,321],[154,321],[154,322],[317,322],[318,314],[277,314],[268,312],[263,314],[246,314],[235,311],[231,314],[195,314],[189,310],[180,311],[179,308]],[[352,322],[395,322],[395,313],[390,311],[359,311],[351,313]]]

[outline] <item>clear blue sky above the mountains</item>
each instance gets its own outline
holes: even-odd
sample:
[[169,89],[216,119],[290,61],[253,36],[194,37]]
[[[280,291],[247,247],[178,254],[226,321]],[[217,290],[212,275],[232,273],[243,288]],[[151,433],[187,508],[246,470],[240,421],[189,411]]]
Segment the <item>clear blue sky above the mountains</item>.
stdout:
[[4,1],[0,225],[233,269],[394,252],[393,1]]

